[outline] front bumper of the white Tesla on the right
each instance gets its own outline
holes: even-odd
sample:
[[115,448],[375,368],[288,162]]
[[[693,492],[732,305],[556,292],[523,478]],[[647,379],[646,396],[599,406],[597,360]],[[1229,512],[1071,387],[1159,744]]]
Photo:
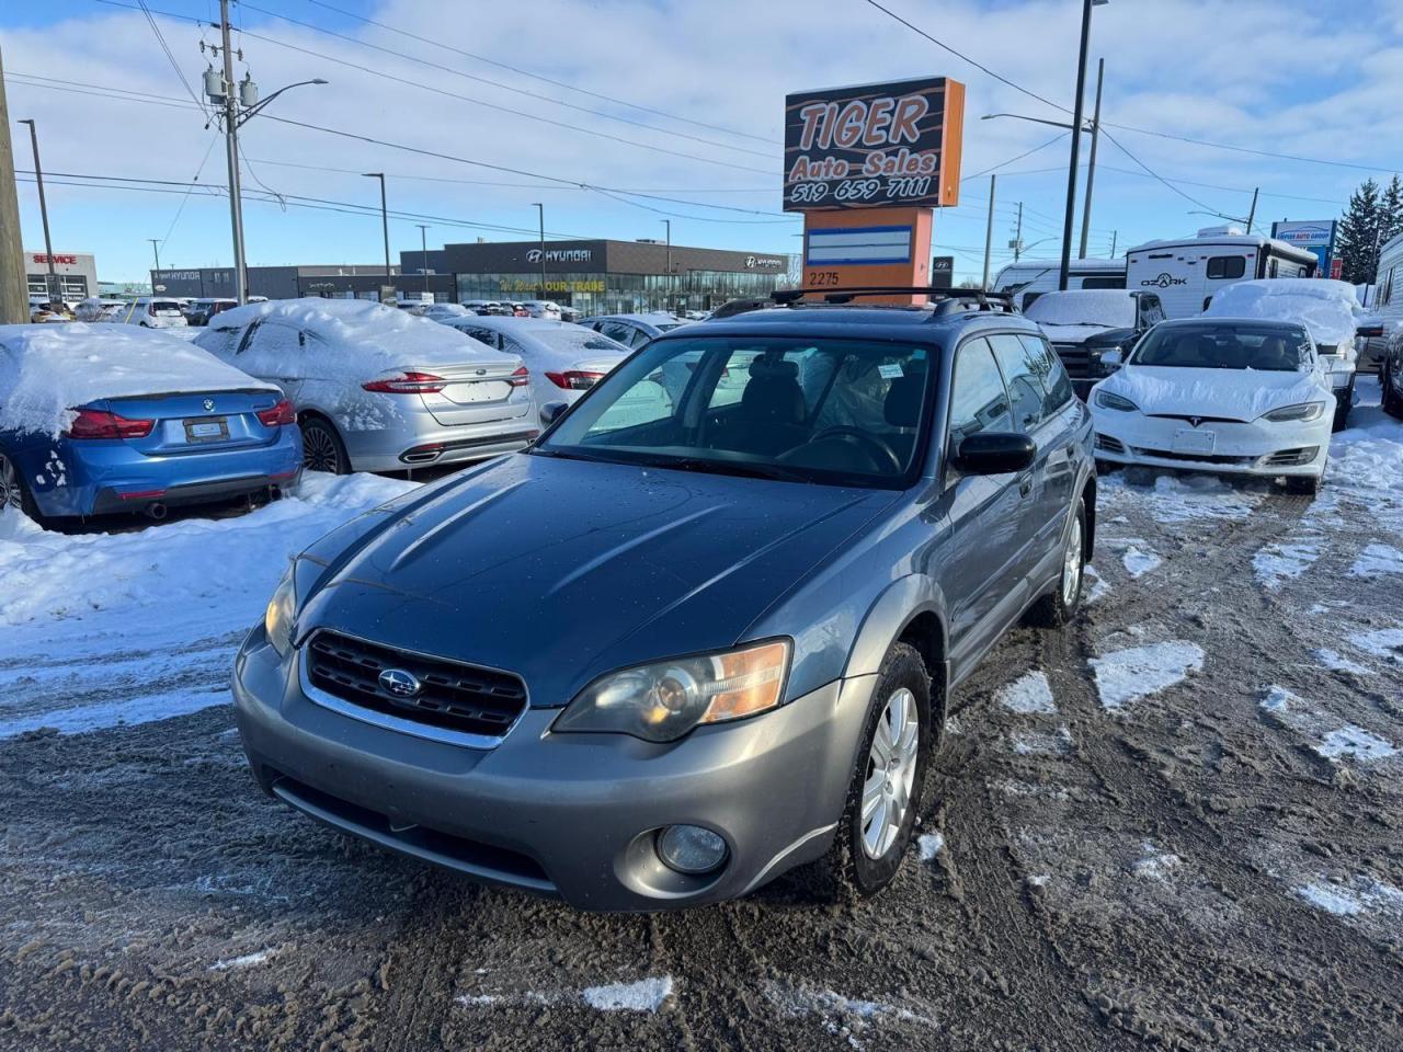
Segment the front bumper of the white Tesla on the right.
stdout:
[[[1096,459],[1115,464],[1176,467],[1216,474],[1319,476],[1330,453],[1331,414],[1306,424],[1204,421],[1096,410]],[[1184,439],[1212,435],[1212,450],[1190,450]],[[1295,456],[1292,456],[1295,454]]]

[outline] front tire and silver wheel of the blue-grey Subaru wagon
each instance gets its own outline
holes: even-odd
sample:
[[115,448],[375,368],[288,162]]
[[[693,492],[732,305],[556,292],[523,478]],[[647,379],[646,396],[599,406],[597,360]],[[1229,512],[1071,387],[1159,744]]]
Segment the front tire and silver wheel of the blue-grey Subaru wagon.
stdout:
[[873,689],[833,846],[810,867],[817,898],[875,895],[897,877],[920,811],[932,735],[926,663],[915,647],[894,642]]

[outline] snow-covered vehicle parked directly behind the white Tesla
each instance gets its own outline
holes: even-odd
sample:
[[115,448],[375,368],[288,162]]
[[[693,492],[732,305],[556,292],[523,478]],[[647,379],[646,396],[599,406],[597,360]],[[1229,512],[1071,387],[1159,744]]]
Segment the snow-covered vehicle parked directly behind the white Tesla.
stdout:
[[1341,429],[1354,405],[1358,362],[1358,302],[1354,286],[1322,278],[1270,278],[1239,282],[1214,296],[1204,311],[1211,318],[1295,321],[1306,327],[1334,391],[1334,429]]

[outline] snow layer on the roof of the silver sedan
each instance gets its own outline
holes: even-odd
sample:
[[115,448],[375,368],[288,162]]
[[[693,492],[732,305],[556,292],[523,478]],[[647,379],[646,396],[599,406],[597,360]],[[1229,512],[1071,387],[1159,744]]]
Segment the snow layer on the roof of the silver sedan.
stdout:
[[[226,310],[196,338],[219,355],[233,352],[229,330],[250,321],[281,321],[261,330],[239,355],[239,365],[258,376],[348,376],[356,382],[408,366],[469,365],[501,352],[429,318],[368,300],[269,300]],[[311,339],[300,342],[297,332]],[[295,369],[289,373],[289,366]]]

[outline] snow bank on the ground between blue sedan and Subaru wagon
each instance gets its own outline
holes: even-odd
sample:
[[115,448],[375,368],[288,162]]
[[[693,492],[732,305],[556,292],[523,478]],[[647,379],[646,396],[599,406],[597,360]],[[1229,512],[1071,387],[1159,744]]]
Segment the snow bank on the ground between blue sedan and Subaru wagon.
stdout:
[[66,536],[0,516],[0,738],[226,704],[234,651],[288,560],[412,488],[307,474],[296,495],[248,515],[115,534]]

